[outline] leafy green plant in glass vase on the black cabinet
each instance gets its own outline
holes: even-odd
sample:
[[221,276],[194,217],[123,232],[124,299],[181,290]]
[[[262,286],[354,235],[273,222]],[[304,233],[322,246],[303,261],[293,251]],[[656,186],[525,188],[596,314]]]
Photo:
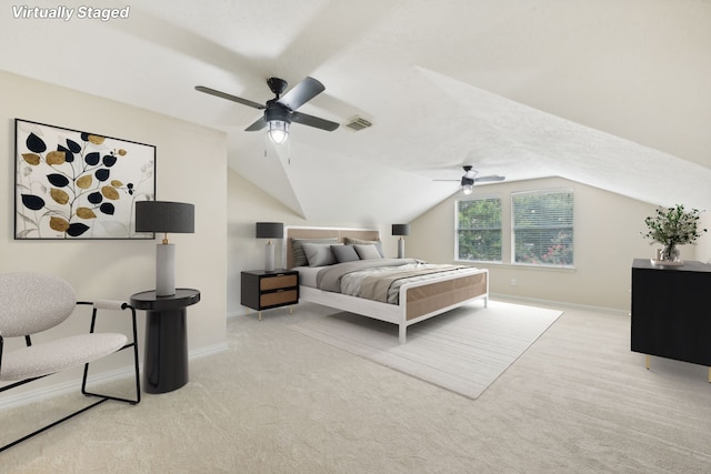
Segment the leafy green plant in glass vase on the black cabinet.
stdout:
[[642,233],[652,243],[662,244],[659,260],[679,262],[679,245],[694,243],[705,229],[699,229],[698,209],[685,211],[682,204],[673,208],[657,208],[654,215],[644,219],[648,232]]

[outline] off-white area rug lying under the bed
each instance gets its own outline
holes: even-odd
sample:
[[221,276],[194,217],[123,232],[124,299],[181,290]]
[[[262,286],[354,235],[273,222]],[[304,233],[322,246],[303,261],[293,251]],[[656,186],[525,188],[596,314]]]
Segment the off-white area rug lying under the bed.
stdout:
[[288,326],[387,367],[477,399],[562,314],[489,301],[474,302],[408,327],[337,313]]

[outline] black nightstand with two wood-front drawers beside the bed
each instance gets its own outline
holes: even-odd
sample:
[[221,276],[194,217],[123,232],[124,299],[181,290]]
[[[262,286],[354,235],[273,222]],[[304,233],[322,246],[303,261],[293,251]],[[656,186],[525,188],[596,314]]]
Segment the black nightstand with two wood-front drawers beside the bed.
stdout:
[[299,303],[299,272],[296,270],[249,270],[242,272],[243,306],[262,310]]

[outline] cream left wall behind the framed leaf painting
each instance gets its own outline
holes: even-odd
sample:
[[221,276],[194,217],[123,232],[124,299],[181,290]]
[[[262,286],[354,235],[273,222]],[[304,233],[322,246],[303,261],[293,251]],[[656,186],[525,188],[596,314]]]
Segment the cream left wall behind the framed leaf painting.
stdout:
[[[177,244],[178,286],[196,288],[202,300],[188,310],[192,353],[223,346],[227,275],[227,139],[206,129],[142,109],[0,72],[0,272],[36,271],[67,279],[80,300],[129,299],[154,288],[153,240],[16,241],[14,119],[104,133],[157,147],[157,198],[196,205],[196,233],[169,235]],[[140,346],[143,347],[143,314]],[[88,331],[88,317],[76,314],[53,333]],[[50,336],[48,334],[47,336]],[[19,343],[13,341],[9,343]],[[7,347],[6,347],[7,349]],[[117,365],[118,364],[118,365]],[[126,362],[107,364],[119,370]],[[42,384],[61,382],[53,377]]]

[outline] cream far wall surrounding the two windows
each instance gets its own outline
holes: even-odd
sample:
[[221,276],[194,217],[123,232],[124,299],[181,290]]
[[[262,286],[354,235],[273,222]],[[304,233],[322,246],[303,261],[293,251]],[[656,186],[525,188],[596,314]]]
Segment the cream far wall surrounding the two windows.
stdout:
[[[482,185],[474,192],[503,199],[503,234],[510,235],[510,193],[551,188],[570,188],[574,192],[575,269],[478,264],[490,270],[491,292],[629,310],[632,260],[651,258],[655,248],[640,235],[645,231],[644,218],[653,214],[655,205],[560,178]],[[458,193],[412,222],[408,256],[453,262],[454,201],[461,198]],[[704,235],[699,246],[682,246],[682,259],[705,261],[708,251],[700,250],[709,240],[711,236]],[[511,243],[505,238],[503,245],[503,260],[510,262]],[[511,285],[512,279],[515,286]]]

